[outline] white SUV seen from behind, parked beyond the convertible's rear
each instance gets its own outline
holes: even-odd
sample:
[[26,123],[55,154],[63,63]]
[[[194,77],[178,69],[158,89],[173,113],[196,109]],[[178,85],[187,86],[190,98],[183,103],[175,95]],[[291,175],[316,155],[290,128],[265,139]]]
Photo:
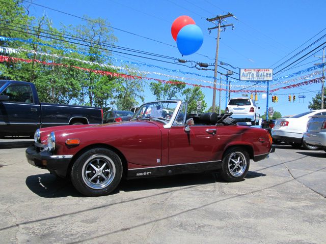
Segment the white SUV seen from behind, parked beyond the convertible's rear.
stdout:
[[232,118],[238,122],[251,122],[252,126],[259,125],[259,109],[250,98],[231,98],[226,107],[227,113],[233,113]]

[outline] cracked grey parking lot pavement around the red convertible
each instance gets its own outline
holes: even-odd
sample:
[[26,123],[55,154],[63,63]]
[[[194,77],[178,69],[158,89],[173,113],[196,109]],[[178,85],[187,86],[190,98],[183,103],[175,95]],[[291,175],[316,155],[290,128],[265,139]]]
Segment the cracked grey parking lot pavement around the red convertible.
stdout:
[[326,153],[277,145],[247,177],[124,181],[84,197],[31,166],[31,140],[0,140],[2,243],[325,243]]

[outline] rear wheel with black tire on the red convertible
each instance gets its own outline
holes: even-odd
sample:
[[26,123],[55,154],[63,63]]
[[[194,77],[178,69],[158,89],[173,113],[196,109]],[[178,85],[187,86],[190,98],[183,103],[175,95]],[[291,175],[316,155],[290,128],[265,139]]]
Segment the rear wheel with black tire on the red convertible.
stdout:
[[[234,159],[238,162],[234,162]],[[218,175],[228,182],[237,182],[246,177],[249,166],[248,152],[241,147],[232,147],[225,151]]]

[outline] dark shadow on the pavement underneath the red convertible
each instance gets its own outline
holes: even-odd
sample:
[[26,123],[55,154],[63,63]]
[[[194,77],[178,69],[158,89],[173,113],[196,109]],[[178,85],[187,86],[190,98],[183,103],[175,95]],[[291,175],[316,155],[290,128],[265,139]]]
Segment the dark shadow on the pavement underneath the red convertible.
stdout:
[[[261,176],[265,176],[265,174],[248,171],[248,174],[245,178],[250,179]],[[166,189],[205,185],[214,182],[226,181],[218,178],[215,172],[130,179],[122,180],[117,190],[110,195],[117,194],[119,191],[133,192],[151,189]],[[60,198],[67,196],[85,197],[75,190],[69,179],[62,179],[50,173],[28,176],[25,180],[25,183],[32,192],[44,198]]]

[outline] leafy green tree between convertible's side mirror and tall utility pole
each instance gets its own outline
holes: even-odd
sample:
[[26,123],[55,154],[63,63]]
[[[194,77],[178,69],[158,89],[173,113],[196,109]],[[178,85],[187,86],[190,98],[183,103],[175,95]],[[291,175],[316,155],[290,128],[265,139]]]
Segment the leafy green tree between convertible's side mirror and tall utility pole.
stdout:
[[202,111],[207,108],[207,104],[205,102],[205,94],[201,91],[199,86],[184,89],[182,95],[185,97],[184,101],[188,103],[188,113],[195,111],[197,113],[197,101],[202,102]]

